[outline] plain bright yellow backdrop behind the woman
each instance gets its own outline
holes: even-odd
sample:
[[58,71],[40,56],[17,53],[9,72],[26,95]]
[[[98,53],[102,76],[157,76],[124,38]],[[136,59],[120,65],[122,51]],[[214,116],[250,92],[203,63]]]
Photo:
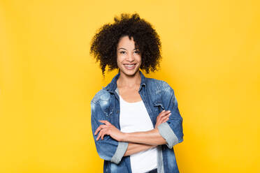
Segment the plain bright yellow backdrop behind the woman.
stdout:
[[96,29],[139,13],[161,36],[175,90],[180,172],[260,172],[259,1],[0,1],[0,172],[102,172],[90,100],[103,79]]

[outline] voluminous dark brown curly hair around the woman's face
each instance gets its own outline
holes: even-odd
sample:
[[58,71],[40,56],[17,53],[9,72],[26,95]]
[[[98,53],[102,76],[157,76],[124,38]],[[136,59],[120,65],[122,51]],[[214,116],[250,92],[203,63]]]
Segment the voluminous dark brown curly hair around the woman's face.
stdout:
[[113,24],[104,24],[94,35],[91,41],[90,54],[94,55],[96,62],[104,75],[106,66],[108,71],[117,67],[117,45],[122,36],[133,37],[135,47],[141,54],[140,69],[146,73],[154,72],[159,67],[161,60],[161,41],[152,25],[140,19],[135,13],[129,15],[122,13],[120,17],[114,17]]

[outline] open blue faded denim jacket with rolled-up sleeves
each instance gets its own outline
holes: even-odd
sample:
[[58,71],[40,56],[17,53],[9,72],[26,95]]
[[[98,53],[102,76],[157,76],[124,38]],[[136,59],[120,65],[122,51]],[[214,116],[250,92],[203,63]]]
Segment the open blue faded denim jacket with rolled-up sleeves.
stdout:
[[[140,97],[155,126],[157,116],[162,110],[171,110],[168,121],[161,123],[157,128],[166,140],[166,144],[157,146],[157,170],[159,173],[177,173],[178,165],[175,159],[173,146],[183,141],[182,116],[178,110],[178,103],[173,89],[162,80],[145,77],[141,71]],[[92,134],[96,144],[96,151],[104,159],[103,172],[124,173],[131,172],[130,157],[124,156],[128,142],[117,142],[109,135],[103,140],[96,141],[96,128],[101,125],[99,120],[107,120],[120,129],[120,98],[117,89],[117,79],[101,89],[91,101]]]

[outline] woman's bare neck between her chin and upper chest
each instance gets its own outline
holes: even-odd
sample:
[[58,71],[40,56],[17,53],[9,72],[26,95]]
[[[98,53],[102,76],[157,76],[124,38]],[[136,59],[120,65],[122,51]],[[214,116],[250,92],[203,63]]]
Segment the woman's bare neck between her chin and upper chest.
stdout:
[[139,71],[134,75],[125,75],[124,73],[120,73],[120,77],[117,80],[117,87],[133,87],[136,84],[140,85],[141,77]]

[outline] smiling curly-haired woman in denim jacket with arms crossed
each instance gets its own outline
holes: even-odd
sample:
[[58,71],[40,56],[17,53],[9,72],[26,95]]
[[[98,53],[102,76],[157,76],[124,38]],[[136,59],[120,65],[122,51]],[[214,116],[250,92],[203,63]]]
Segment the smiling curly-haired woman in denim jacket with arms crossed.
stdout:
[[90,53],[103,75],[119,73],[91,101],[92,133],[103,172],[179,172],[173,146],[183,141],[182,116],[173,89],[147,78],[157,70],[161,42],[138,14],[122,14],[92,39]]

